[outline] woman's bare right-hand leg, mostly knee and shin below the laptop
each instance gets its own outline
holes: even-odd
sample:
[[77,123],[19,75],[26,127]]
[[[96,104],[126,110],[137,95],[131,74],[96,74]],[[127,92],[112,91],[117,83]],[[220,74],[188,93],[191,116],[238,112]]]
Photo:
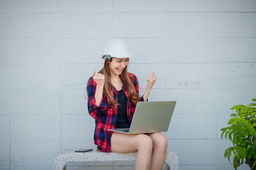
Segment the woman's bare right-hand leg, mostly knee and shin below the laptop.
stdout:
[[161,133],[151,133],[148,134],[153,141],[153,152],[151,158],[150,169],[152,170],[161,170],[164,164],[166,148],[167,148],[167,139]]

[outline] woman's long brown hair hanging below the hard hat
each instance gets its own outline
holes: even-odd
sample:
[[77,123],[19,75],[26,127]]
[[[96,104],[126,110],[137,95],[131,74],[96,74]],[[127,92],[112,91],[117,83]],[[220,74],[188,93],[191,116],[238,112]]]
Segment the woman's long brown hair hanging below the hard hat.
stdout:
[[[112,58],[110,60],[105,59],[104,66],[102,67],[102,69],[100,69],[99,73],[104,74],[104,76],[105,76],[103,93],[108,98],[107,104],[110,106],[115,106],[118,104],[115,102],[114,97],[113,97],[113,90],[115,87],[111,84],[111,73],[110,73],[110,68],[109,68],[109,63],[111,61],[112,61]],[[133,105],[136,106],[136,103],[139,101],[140,96],[136,92],[136,90],[131,82],[131,79],[129,78],[129,75],[127,73],[127,66],[124,68],[124,70],[120,74],[120,79],[121,79],[122,83],[124,84],[125,89],[127,89],[127,91],[128,91],[129,100],[131,101],[131,103]]]

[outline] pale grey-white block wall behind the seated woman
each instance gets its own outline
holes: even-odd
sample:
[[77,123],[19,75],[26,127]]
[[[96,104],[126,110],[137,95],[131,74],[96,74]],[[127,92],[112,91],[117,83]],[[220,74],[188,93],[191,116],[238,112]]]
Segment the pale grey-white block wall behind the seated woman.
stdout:
[[149,100],[177,101],[164,134],[180,169],[232,169],[220,129],[256,97],[255,21],[255,0],[1,0],[0,169],[94,147],[83,94],[111,38],[131,47],[140,95],[154,71]]

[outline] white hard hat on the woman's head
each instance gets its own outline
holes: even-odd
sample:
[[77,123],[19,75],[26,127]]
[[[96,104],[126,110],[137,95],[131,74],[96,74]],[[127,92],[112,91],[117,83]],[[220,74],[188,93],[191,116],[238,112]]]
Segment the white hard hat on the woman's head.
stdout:
[[111,39],[104,48],[102,59],[116,58],[131,58],[132,53],[123,39]]

